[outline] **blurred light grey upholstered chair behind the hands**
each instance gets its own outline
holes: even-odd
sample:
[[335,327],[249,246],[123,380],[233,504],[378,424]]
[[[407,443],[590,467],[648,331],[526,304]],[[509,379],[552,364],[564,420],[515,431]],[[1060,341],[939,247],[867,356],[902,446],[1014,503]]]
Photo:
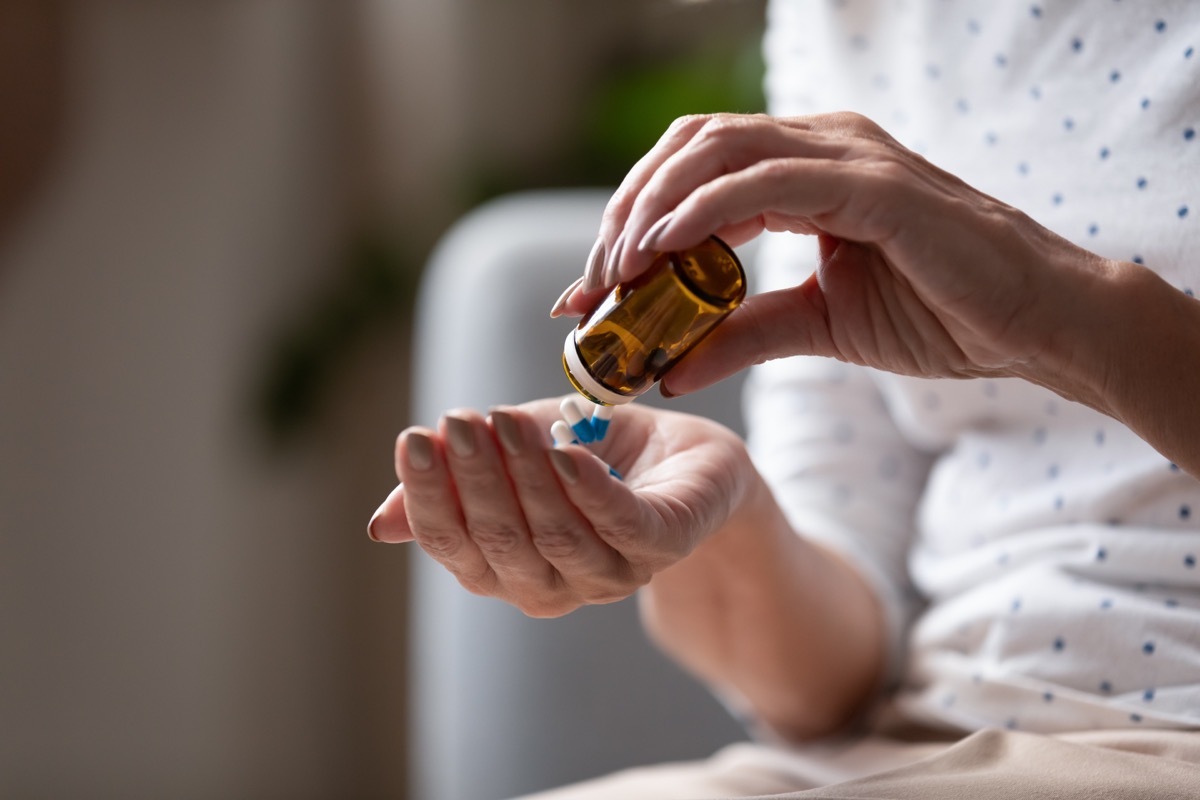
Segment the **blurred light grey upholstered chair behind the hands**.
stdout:
[[[607,198],[511,196],[445,235],[418,301],[415,422],[570,391],[560,355],[571,323],[547,312],[581,272]],[[740,429],[739,395],[730,379],[671,408]],[[468,594],[424,554],[412,578],[415,800],[500,800],[745,738],[646,639],[634,600],[534,620]]]

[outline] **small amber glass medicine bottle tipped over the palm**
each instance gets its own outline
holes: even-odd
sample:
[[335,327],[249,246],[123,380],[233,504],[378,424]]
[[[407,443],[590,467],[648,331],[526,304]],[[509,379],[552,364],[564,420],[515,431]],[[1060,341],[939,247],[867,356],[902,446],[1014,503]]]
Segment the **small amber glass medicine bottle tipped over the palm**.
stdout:
[[658,383],[746,293],[745,271],[715,236],[659,253],[642,275],[619,283],[566,336],[563,368],[593,403],[620,405]]

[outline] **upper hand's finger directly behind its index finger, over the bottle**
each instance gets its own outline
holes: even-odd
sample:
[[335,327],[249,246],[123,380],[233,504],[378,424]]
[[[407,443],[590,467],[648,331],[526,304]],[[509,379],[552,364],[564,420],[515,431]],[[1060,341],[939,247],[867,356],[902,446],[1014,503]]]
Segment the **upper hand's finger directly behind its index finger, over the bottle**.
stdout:
[[[799,124],[768,116],[719,116],[706,122],[692,138],[655,170],[638,193],[625,222],[625,235],[636,242],[620,254],[619,278],[628,281],[641,272],[654,253],[670,249],[659,235],[671,223],[676,207],[696,190],[722,175],[739,173],[754,164],[776,158],[845,157],[852,139],[817,133]],[[758,213],[726,219],[704,235],[718,234],[739,245],[762,230]]]

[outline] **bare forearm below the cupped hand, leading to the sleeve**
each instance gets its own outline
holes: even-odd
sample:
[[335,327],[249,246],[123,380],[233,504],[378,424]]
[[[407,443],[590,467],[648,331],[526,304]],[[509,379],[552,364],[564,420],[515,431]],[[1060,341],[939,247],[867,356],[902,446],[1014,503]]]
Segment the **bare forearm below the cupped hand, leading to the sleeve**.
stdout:
[[797,536],[754,481],[728,524],[642,590],[643,621],[702,680],[779,734],[808,739],[875,691],[883,615],[863,579]]

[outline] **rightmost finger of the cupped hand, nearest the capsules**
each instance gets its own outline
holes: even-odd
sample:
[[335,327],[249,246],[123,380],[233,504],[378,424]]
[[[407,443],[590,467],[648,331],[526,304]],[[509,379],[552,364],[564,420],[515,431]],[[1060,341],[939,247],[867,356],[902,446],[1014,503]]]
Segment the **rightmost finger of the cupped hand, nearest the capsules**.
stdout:
[[648,581],[656,570],[686,554],[683,536],[652,519],[646,504],[586,447],[554,447],[548,456],[566,497],[596,535],[632,565],[635,581]]

